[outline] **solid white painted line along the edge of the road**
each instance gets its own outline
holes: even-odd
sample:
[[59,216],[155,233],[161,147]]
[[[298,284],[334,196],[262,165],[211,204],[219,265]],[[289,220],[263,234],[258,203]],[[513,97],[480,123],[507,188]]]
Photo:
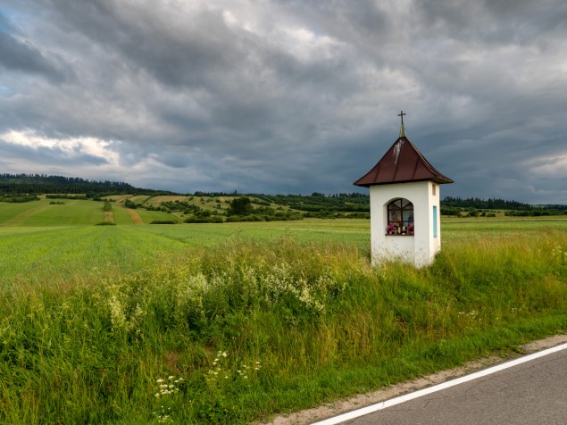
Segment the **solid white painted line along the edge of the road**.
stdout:
[[463,384],[464,382],[469,382],[470,380],[473,380],[473,379],[479,379],[479,378],[482,378],[483,376],[487,376],[487,375],[490,375],[492,373],[496,373],[497,371],[504,371],[504,369],[512,368],[514,366],[517,366],[518,364],[529,362],[531,360],[538,359],[539,357],[544,357],[548,354],[557,353],[557,352],[562,351],[562,350],[567,350],[567,344],[562,344],[561,346],[554,346],[552,348],[548,348],[548,349],[540,351],[538,353],[525,355],[523,357],[519,357],[517,359],[514,359],[510,362],[497,364],[496,366],[492,366],[492,367],[485,369],[483,371],[474,372],[474,373],[471,373],[470,375],[466,375],[466,376],[463,376],[461,378],[449,380],[449,381],[443,382],[442,384],[435,385],[433,387],[423,388],[419,391],[415,391],[413,393],[406,394],[404,396],[392,398],[390,400],[386,400],[384,402],[380,402],[380,403],[377,403],[377,404],[371,404],[370,406],[363,407],[362,409],[357,409],[357,410],[352,411],[352,412],[346,412],[346,413],[343,413],[341,415],[335,416],[334,418],[326,419],[324,421],[315,422],[315,423],[313,423],[313,425],[335,425],[335,424],[338,424],[338,423],[341,423],[341,422],[344,422],[344,421],[350,421],[350,420],[355,419],[355,418],[360,418],[361,416],[364,416],[365,414],[369,414],[369,413],[372,413],[372,412],[378,412],[379,410],[386,409],[387,407],[391,407],[391,406],[396,405],[396,404],[402,404],[402,403],[405,403],[407,401],[413,400],[414,398],[427,396],[428,394],[436,393],[436,392],[441,391],[443,389],[446,389],[446,388],[449,388],[449,387],[454,387],[455,385],[460,385],[460,384]]

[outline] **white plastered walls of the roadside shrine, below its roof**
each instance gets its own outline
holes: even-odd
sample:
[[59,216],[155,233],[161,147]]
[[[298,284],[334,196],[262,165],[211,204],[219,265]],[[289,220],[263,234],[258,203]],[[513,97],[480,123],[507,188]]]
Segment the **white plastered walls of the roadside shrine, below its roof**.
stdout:
[[[439,185],[431,181],[375,185],[370,187],[370,195],[372,264],[399,259],[423,267],[433,262],[441,249]],[[386,234],[388,204],[397,198],[405,198],[413,204],[413,236]],[[437,207],[437,237],[433,235],[434,206]]]

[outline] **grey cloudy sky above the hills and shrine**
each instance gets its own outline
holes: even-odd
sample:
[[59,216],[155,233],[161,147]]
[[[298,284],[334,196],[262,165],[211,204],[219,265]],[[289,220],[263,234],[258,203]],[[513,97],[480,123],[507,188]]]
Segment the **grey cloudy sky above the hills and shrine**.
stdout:
[[442,196],[567,204],[567,3],[0,3],[0,172],[366,191],[400,110]]

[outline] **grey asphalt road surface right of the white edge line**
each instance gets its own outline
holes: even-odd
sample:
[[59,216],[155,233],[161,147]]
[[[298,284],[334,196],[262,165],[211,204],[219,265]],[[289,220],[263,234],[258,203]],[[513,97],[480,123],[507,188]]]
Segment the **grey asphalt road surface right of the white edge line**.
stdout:
[[340,423],[564,425],[567,349]]

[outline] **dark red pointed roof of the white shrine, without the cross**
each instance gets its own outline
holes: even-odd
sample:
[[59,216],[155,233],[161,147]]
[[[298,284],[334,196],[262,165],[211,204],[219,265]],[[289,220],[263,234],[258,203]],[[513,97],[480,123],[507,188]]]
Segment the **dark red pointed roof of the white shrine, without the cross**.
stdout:
[[423,180],[431,180],[439,184],[454,183],[452,179],[437,171],[410,139],[403,135],[371,171],[354,182],[354,186],[371,187]]

